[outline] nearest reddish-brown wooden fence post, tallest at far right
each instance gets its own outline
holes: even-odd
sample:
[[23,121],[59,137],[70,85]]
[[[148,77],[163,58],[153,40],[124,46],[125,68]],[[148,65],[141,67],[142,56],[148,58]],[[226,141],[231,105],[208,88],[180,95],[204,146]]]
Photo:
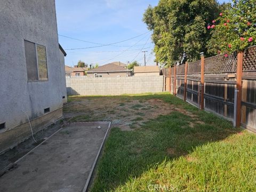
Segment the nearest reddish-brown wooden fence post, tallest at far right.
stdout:
[[237,71],[236,71],[236,89],[237,103],[236,105],[236,127],[241,124],[241,99],[242,99],[242,73],[243,73],[243,52],[237,54]]

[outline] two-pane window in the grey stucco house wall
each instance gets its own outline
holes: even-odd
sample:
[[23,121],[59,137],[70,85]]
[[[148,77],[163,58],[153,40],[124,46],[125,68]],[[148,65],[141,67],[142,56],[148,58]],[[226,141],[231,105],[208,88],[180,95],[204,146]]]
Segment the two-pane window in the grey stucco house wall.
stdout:
[[25,40],[25,57],[28,82],[47,81],[47,61],[45,46]]

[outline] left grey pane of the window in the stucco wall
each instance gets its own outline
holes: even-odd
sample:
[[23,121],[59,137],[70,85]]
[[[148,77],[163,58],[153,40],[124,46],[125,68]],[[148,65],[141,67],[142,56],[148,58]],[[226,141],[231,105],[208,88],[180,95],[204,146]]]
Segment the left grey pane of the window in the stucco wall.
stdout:
[[28,81],[38,81],[35,43],[25,41],[25,55]]

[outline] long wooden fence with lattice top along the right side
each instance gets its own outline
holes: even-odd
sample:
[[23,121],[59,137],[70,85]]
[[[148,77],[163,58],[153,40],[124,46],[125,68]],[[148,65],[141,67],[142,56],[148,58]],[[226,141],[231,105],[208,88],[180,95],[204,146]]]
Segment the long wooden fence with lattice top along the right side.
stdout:
[[166,69],[165,90],[256,132],[256,46]]

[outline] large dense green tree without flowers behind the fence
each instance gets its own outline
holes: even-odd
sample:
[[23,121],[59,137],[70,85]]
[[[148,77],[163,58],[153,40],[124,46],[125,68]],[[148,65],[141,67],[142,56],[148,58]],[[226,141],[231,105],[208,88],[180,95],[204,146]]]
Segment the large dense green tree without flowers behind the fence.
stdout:
[[172,66],[184,52],[190,61],[199,59],[200,52],[207,55],[211,33],[206,27],[219,10],[215,0],[160,0],[156,7],[149,5],[143,21],[153,31],[156,60]]

